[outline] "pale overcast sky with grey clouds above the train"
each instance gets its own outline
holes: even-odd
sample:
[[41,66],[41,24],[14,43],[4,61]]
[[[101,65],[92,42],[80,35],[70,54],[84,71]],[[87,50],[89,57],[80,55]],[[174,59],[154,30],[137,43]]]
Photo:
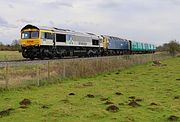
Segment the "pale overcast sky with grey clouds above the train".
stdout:
[[26,24],[93,32],[160,45],[180,40],[180,0],[0,0],[0,41]]

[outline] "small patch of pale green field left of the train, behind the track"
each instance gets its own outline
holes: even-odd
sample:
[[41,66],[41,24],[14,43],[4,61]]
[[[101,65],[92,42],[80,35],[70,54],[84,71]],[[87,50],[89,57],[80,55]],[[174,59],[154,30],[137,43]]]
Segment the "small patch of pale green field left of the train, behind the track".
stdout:
[[0,51],[0,61],[23,59],[22,53],[18,51]]

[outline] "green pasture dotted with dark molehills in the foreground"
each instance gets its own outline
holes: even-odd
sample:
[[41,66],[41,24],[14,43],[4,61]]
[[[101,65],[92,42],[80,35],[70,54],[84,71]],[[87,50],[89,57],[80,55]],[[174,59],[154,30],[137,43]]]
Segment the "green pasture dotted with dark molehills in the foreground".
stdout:
[[180,117],[180,58],[0,93],[0,121],[169,122]]

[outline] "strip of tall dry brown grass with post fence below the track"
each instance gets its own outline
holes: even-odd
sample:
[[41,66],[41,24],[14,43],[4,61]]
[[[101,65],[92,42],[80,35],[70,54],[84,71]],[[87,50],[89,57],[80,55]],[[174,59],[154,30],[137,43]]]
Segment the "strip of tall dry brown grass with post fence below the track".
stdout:
[[18,66],[10,66],[6,63],[5,67],[0,68],[0,87],[40,86],[64,78],[94,76],[98,73],[121,70],[134,64],[144,64],[152,60],[163,60],[169,57],[167,54],[146,54],[52,60],[42,64],[32,63]]

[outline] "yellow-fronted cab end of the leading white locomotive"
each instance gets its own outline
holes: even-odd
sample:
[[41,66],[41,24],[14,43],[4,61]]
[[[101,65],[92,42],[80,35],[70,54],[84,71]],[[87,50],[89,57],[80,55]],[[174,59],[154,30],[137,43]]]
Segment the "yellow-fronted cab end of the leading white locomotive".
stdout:
[[52,58],[54,56],[54,34],[50,29],[26,25],[21,30],[20,45],[24,58]]

